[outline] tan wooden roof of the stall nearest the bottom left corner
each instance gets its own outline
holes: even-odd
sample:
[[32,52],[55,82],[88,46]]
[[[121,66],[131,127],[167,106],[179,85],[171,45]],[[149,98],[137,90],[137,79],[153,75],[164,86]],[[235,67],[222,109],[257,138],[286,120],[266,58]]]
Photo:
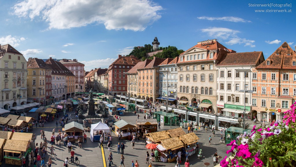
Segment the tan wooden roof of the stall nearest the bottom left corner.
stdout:
[[27,151],[30,142],[21,140],[6,140],[3,151],[10,153],[20,153]]

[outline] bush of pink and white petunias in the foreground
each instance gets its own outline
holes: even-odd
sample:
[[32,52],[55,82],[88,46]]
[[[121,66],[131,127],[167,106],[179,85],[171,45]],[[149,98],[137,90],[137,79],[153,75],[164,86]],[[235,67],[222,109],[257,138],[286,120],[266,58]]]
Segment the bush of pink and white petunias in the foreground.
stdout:
[[231,141],[233,159],[227,156],[220,162],[223,167],[233,166],[296,166],[296,102],[284,112],[283,121],[277,120],[266,127],[253,127]]

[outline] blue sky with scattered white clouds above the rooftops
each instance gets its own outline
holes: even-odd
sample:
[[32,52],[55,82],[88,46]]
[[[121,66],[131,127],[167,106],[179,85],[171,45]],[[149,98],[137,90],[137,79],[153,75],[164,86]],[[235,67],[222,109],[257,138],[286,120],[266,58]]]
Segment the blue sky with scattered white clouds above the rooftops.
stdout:
[[2,0],[0,6],[1,45],[27,59],[77,59],[86,71],[108,68],[154,37],[183,50],[217,39],[265,58],[285,41],[296,46],[296,2],[289,0]]

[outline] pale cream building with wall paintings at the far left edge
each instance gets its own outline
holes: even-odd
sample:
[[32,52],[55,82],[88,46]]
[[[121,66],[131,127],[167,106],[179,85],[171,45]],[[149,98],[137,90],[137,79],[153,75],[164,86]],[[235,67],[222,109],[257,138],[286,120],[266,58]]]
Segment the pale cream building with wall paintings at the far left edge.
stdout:
[[27,60],[11,45],[0,49],[0,107],[27,104]]

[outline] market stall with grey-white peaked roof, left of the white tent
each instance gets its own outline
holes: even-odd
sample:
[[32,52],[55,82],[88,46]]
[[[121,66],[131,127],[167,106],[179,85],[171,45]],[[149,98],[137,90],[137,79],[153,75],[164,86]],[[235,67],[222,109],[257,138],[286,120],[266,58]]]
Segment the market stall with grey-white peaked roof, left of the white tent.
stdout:
[[77,122],[70,122],[62,129],[68,135],[68,141],[78,143],[78,139],[83,141],[83,125]]

